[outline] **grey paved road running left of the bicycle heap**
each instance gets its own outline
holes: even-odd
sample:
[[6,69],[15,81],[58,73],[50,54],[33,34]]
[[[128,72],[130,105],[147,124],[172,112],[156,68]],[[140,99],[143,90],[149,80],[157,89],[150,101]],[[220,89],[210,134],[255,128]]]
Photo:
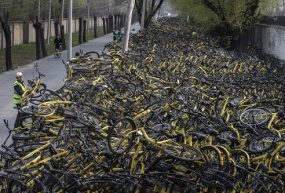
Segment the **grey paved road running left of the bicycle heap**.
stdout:
[[[139,28],[139,24],[137,23],[132,26],[132,29],[135,29],[135,32],[137,32]],[[73,48],[73,55],[80,49],[84,50],[84,52],[97,51],[101,53],[104,45],[112,41],[112,37],[112,34],[108,34],[91,40],[85,44],[76,46]],[[61,58],[66,60],[66,51],[62,53]],[[47,88],[55,90],[63,85],[63,79],[66,71],[61,59],[55,59],[54,56],[49,56],[44,59],[37,60],[32,64],[0,74],[0,144],[4,142],[8,135],[2,120],[8,119],[9,125],[13,127],[17,115],[17,110],[13,108],[12,102],[13,83],[15,81],[16,72],[23,72],[24,81],[27,84],[27,80],[33,79],[33,66],[35,63],[38,64],[39,71],[46,75],[46,77],[43,77],[41,80],[47,85]]]

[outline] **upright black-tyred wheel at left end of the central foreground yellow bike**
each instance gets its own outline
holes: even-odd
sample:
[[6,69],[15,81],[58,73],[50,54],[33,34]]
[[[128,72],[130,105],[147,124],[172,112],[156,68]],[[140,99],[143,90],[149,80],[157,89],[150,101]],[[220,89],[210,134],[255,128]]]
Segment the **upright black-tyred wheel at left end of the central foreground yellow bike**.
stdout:
[[136,125],[130,118],[122,118],[108,130],[108,146],[112,153],[123,154],[130,150],[136,137]]

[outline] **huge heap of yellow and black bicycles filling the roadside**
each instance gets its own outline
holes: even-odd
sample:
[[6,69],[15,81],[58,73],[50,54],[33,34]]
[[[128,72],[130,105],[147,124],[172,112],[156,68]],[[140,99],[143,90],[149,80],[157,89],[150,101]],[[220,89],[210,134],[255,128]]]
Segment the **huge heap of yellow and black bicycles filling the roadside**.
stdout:
[[284,70],[178,18],[69,61],[6,127],[0,192],[283,192]]

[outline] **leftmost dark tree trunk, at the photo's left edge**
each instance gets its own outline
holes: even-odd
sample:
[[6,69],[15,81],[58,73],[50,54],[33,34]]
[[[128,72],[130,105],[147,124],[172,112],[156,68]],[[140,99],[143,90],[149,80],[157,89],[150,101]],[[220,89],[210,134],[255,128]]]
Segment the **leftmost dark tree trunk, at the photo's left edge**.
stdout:
[[4,18],[0,16],[0,23],[6,39],[5,63],[6,63],[6,71],[8,71],[12,69],[12,37],[9,26],[9,12],[4,13]]

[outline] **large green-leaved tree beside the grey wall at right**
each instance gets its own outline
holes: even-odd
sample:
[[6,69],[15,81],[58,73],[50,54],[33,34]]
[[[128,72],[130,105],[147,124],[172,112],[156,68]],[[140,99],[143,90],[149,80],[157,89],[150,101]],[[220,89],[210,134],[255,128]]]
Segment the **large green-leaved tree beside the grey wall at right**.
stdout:
[[278,0],[170,0],[180,13],[189,15],[203,29],[231,37],[235,47],[240,35],[256,24]]

